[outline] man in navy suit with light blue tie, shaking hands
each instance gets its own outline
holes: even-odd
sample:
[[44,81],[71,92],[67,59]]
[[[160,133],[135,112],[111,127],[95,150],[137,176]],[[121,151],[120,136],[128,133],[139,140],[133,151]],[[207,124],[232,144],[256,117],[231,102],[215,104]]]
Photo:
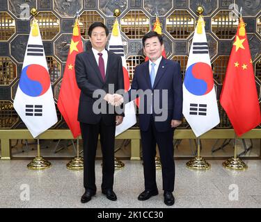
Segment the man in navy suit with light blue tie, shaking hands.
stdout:
[[[147,33],[142,41],[144,53],[149,60],[136,67],[132,88],[128,94],[129,99],[133,100],[136,97],[136,90],[147,91],[145,93],[147,96],[140,96],[143,102],[139,105],[145,191],[138,199],[148,200],[158,194],[155,168],[157,144],[162,165],[164,203],[173,205],[175,202],[172,194],[175,178],[173,134],[174,128],[182,123],[180,65],[161,56],[164,44],[162,36],[155,31]],[[122,99],[116,95],[116,103],[120,101],[122,102]]]

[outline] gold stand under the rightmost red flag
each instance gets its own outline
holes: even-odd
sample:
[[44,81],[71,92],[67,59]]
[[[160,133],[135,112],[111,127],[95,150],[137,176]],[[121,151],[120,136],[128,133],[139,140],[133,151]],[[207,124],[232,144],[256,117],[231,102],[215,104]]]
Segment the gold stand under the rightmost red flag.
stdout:
[[233,169],[233,170],[245,170],[248,166],[237,157],[237,136],[235,135],[235,148],[234,148],[234,157],[230,157],[228,160],[223,162],[223,167],[226,169]]

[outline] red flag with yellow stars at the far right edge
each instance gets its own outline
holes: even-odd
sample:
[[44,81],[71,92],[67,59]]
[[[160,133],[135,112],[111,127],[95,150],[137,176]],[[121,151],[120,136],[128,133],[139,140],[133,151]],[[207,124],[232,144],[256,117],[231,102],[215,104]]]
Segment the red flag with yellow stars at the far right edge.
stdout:
[[239,137],[261,122],[251,53],[242,18],[232,46],[220,103]]

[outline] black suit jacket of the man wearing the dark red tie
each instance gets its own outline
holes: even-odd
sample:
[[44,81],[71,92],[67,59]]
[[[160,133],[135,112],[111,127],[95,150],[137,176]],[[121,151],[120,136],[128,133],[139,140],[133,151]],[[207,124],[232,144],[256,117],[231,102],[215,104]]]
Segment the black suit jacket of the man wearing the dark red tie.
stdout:
[[[78,121],[89,124],[96,124],[102,118],[104,123],[109,126],[115,124],[116,112],[113,107],[113,114],[95,114],[93,112],[93,103],[97,99],[94,98],[93,92],[96,89],[103,89],[104,92],[109,92],[109,84],[114,85],[114,92],[118,89],[124,89],[122,60],[120,56],[108,52],[108,61],[106,67],[105,81],[102,79],[100,69],[95,60],[93,51],[90,49],[77,54],[75,59],[75,74],[77,85],[81,89],[79,99]],[[110,92],[111,93],[111,92]],[[102,98],[105,96],[102,95]],[[100,96],[101,97],[101,96]],[[103,105],[106,105],[109,110],[109,104],[104,99],[101,99]],[[124,115],[124,114],[120,114]]]

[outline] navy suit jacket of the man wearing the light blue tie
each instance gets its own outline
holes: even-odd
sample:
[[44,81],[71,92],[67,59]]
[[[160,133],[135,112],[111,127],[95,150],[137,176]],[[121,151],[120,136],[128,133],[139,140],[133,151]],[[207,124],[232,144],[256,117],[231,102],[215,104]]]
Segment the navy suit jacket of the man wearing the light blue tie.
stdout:
[[[134,72],[134,78],[132,80],[132,87],[129,90],[129,99],[131,99],[132,89],[146,89],[152,90],[152,101],[154,97],[159,98],[157,101],[160,109],[164,109],[167,113],[166,121],[155,121],[155,127],[158,132],[166,132],[171,129],[171,120],[181,120],[182,119],[182,76],[180,73],[180,64],[174,62],[173,60],[167,60],[166,58],[161,59],[159,63],[159,68],[155,78],[155,83],[152,86],[150,83],[150,71],[149,71],[149,61],[143,62],[141,65],[137,66]],[[157,94],[157,90],[159,89]],[[168,90],[168,101],[164,103],[162,99],[162,90]],[[133,98],[132,98],[133,99]],[[141,130],[146,131],[150,125],[150,110],[147,110],[148,99],[144,98],[144,110],[139,107],[139,125]],[[161,114],[155,113],[154,103],[152,102],[152,114],[155,118]],[[148,105],[150,109],[150,105]],[[143,114],[141,114],[143,110]]]

